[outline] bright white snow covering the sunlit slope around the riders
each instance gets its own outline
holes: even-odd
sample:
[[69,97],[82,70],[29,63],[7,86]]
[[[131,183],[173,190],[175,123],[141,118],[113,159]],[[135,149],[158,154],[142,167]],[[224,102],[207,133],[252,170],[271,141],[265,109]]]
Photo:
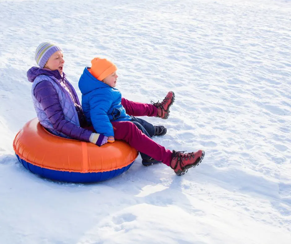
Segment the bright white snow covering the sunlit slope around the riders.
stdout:
[[[0,243],[291,243],[291,2],[0,0]],[[112,60],[124,98],[176,101],[154,140],[205,150],[184,176],[160,164],[110,181],[42,179],[13,139],[36,117],[26,72],[43,41],[68,79]]]

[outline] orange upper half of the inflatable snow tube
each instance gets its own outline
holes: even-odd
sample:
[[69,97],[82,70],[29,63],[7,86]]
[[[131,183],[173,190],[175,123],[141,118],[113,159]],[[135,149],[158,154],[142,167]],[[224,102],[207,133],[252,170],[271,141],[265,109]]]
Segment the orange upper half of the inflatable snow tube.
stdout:
[[99,147],[55,136],[39,123],[28,121],[13,142],[15,153],[23,160],[41,168],[68,172],[105,172],[132,163],[137,150],[126,142],[115,141]]

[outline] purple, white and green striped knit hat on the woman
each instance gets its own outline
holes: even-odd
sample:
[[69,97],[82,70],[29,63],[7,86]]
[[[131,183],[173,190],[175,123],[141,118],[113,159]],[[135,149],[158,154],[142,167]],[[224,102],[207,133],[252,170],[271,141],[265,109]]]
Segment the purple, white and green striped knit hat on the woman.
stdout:
[[37,49],[35,50],[34,59],[39,67],[43,68],[50,56],[59,50],[61,49],[54,43],[43,42],[39,44]]

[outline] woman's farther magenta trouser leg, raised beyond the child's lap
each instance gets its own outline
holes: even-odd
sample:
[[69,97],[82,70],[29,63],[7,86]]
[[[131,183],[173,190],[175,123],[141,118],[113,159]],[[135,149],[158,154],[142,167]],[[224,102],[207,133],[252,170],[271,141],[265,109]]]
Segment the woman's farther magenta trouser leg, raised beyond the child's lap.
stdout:
[[121,98],[121,104],[128,115],[153,117],[158,114],[158,109],[152,104],[132,102],[125,98]]

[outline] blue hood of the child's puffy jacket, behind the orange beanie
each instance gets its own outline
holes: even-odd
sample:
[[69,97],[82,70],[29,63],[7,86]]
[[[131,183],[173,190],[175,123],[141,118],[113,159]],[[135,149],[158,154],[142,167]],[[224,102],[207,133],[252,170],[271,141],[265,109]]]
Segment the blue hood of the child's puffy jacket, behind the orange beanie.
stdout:
[[[99,81],[96,79],[87,69],[87,67],[84,69],[83,74],[80,77],[79,80],[79,89],[82,94],[87,94],[95,89],[98,88],[112,88],[111,86],[105,84],[102,81]],[[115,88],[113,88],[115,89]]]

